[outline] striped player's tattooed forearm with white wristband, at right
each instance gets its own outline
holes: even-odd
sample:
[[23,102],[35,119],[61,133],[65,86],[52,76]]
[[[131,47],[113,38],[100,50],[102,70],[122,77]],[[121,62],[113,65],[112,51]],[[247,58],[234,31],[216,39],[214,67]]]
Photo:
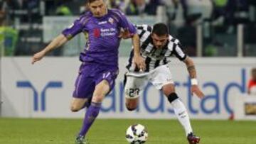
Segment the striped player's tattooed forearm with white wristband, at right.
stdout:
[[185,60],[186,67],[188,69],[188,74],[191,77],[191,93],[196,94],[200,99],[204,97],[203,92],[201,92],[201,89],[198,87],[198,81],[196,79],[196,67],[193,63],[193,60],[190,57],[186,57]]

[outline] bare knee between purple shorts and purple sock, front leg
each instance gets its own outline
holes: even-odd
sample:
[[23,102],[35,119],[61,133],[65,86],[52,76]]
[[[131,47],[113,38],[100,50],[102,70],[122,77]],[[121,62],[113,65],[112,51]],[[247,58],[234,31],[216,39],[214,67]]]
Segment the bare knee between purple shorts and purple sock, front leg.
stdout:
[[102,102],[108,92],[110,92],[110,84],[106,79],[103,79],[99,84],[96,85],[95,92],[93,92],[92,101],[96,103]]

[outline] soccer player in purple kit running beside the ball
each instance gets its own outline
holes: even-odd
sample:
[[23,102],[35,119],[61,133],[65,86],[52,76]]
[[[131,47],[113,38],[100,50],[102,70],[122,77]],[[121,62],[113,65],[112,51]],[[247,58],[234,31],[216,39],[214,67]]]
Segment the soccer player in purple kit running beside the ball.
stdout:
[[103,99],[114,87],[114,79],[118,74],[120,31],[132,35],[134,63],[142,70],[145,67],[139,53],[139,35],[124,14],[119,10],[107,9],[105,0],[88,0],[87,6],[90,11],[80,16],[73,25],[32,57],[33,64],[78,33],[86,33],[87,43],[85,50],[80,53],[82,65],[71,101],[71,111],[74,112],[87,106],[82,128],[75,138],[77,144],[83,144],[84,141],[87,143],[85,135],[98,116]]

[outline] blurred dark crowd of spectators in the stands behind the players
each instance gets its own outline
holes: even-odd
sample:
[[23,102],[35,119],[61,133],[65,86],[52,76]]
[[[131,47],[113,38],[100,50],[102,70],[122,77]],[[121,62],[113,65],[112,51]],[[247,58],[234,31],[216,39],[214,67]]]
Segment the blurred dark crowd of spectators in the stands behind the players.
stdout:
[[[186,45],[188,55],[196,56],[196,26],[203,26],[203,56],[236,56],[238,24],[244,24],[244,56],[256,53],[256,2],[253,0],[108,0],[108,6],[127,16],[156,16],[166,9],[170,33]],[[5,55],[31,55],[43,43],[43,16],[79,16],[86,11],[85,0],[1,0],[0,31]],[[208,6],[195,11],[196,6]],[[206,6],[205,6],[206,7]],[[183,18],[178,21],[178,13]],[[205,13],[210,13],[204,16]],[[150,23],[148,23],[150,24]],[[153,25],[154,23],[151,23]],[[249,31],[250,30],[250,31]],[[4,34],[3,34],[4,33]],[[55,52],[51,55],[63,55]]]

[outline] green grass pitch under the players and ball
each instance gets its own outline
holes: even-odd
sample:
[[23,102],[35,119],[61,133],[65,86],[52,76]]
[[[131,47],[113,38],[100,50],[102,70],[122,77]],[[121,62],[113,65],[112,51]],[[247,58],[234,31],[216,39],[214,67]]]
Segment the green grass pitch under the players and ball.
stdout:
[[[177,120],[98,119],[87,138],[90,144],[127,144],[129,125],[149,131],[146,144],[187,144]],[[0,144],[73,144],[82,119],[0,118]],[[256,121],[191,121],[201,144],[255,144]]]

